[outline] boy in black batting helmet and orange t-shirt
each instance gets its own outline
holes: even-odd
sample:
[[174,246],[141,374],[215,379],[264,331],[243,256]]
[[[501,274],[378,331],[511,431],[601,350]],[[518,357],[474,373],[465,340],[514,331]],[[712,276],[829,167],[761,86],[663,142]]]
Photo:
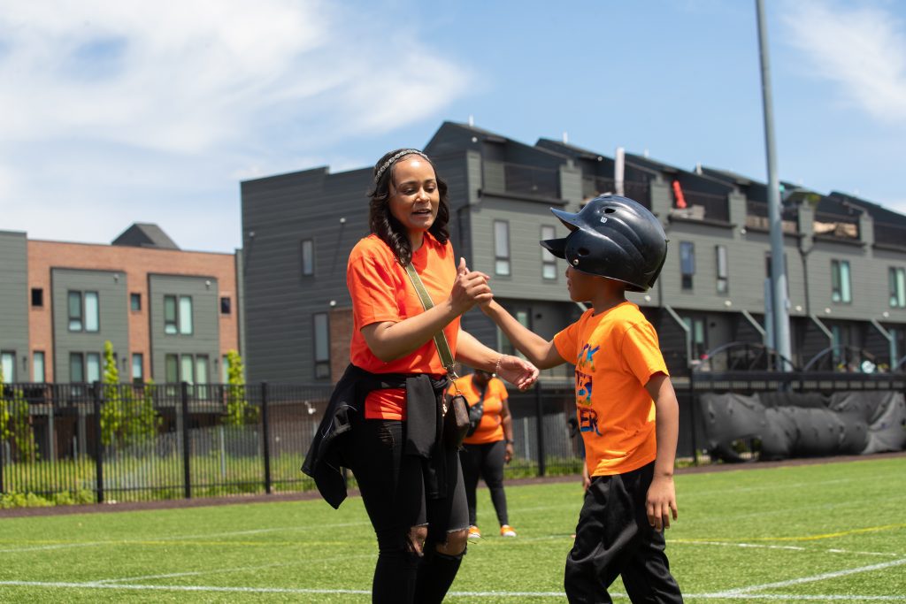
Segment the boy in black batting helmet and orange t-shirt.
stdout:
[[663,536],[670,516],[677,518],[679,406],[658,335],[625,297],[658,278],[667,238],[658,219],[626,197],[597,197],[578,214],[551,211],[572,233],[541,244],[569,262],[570,298],[593,308],[551,341],[496,302],[483,310],[539,369],[575,363],[591,484],[566,559],[566,596],[611,602],[607,588],[621,575],[633,602],[681,602]]

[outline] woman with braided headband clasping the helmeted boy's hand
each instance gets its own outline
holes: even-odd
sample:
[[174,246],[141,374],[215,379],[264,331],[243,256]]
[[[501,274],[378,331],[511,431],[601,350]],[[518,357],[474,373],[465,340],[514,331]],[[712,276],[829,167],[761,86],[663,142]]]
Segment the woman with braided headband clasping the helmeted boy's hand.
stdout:
[[[439,440],[447,370],[433,337],[454,358],[528,388],[538,370],[501,355],[459,327],[493,295],[487,275],[458,263],[449,242],[447,185],[418,149],[398,149],[374,167],[371,235],[352,249],[356,412],[342,456],[352,469],[378,539],[375,602],[440,602],[466,551],[468,515],[458,451]],[[434,306],[424,310],[406,265]]]

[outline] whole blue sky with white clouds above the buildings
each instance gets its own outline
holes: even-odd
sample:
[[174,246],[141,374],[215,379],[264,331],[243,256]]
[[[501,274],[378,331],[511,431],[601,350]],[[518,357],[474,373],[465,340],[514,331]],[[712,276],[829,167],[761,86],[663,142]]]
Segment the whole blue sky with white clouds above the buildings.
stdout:
[[[779,176],[906,213],[906,3],[765,5]],[[241,180],[470,116],[766,180],[754,0],[0,0],[0,79],[0,229],[33,239],[231,252]]]

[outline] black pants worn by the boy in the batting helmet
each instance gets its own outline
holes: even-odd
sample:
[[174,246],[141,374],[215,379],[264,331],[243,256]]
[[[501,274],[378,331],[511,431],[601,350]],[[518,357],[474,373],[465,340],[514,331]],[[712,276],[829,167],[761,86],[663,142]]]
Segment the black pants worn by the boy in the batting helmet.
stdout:
[[654,464],[622,475],[595,476],[566,557],[566,597],[576,602],[612,602],[607,588],[622,576],[632,602],[682,602],[670,574],[662,532],[645,513]]

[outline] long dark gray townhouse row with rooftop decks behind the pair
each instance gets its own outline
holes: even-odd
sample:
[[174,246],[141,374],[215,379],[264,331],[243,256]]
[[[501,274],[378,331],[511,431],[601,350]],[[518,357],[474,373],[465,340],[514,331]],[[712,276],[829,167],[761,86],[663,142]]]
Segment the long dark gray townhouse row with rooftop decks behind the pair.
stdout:
[[[616,190],[614,159],[452,122],[424,149],[448,181],[454,248],[492,275],[497,300],[545,337],[573,321],[582,308],[566,293],[565,265],[538,241],[566,234],[549,208],[578,211]],[[242,183],[250,381],[328,383],[348,363],[346,259],[368,234],[370,186],[371,167]],[[708,350],[731,342],[771,344],[766,185],[626,154],[623,190],[660,218],[670,239],[658,283],[630,299],[657,327],[671,372],[688,374]],[[878,366],[897,365],[906,354],[906,216],[790,183],[783,198],[795,366],[846,347],[863,349]],[[512,350],[480,312],[467,313],[463,325],[489,346]]]

